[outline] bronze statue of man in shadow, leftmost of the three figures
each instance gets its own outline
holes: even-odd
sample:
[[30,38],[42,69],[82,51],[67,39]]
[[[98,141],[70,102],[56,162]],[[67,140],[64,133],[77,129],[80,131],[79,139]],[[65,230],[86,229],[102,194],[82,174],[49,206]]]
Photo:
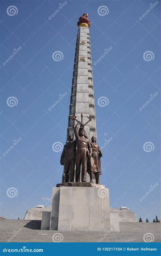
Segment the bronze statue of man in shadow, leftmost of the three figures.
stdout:
[[64,145],[60,158],[60,164],[64,165],[65,169],[65,182],[74,182],[75,155],[76,140],[73,141],[73,135],[69,135],[68,143]]

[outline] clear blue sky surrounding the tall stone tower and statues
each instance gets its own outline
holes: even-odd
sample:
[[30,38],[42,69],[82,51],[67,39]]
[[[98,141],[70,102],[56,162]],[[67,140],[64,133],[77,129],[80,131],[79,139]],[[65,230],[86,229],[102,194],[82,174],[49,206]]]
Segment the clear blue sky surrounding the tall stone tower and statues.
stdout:
[[[23,219],[29,208],[49,206],[61,182],[61,149],[52,146],[66,142],[77,21],[89,13],[99,146],[112,138],[103,148],[101,183],[111,207],[160,219],[160,3],[149,9],[155,1],[69,0],[60,9],[63,3],[1,1],[0,216]],[[100,106],[100,97],[109,104]]]

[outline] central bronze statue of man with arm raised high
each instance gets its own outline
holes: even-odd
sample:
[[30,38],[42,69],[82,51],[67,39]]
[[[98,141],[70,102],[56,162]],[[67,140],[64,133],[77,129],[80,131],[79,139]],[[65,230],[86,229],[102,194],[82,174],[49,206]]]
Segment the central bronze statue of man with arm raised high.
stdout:
[[[78,122],[74,127],[74,134],[75,134],[76,146],[77,146],[75,181],[80,182],[80,178],[81,178],[82,182],[86,182],[88,150],[89,150],[89,157],[91,157],[92,149],[91,149],[90,141],[87,138],[84,125],[81,125],[78,131],[78,127],[80,123],[81,122]],[[81,177],[81,164],[82,164],[82,177]]]

